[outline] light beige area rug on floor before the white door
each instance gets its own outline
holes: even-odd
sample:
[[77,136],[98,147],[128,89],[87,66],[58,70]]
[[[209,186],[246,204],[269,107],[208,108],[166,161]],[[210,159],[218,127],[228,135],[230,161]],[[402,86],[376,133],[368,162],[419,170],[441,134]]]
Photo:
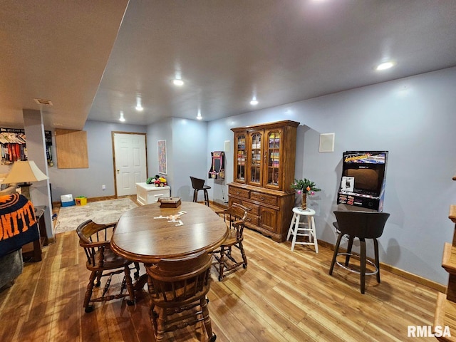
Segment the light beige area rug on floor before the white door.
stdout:
[[76,230],[87,219],[100,224],[117,222],[120,215],[135,207],[138,205],[128,197],[61,207],[55,222],[56,234]]

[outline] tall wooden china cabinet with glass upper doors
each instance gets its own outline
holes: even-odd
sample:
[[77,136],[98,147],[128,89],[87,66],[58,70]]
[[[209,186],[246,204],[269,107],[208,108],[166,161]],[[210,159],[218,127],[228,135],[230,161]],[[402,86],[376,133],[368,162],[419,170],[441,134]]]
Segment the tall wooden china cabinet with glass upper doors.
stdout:
[[291,222],[295,191],[296,121],[232,128],[234,182],[228,185],[229,205],[251,209],[246,226],[283,242]]

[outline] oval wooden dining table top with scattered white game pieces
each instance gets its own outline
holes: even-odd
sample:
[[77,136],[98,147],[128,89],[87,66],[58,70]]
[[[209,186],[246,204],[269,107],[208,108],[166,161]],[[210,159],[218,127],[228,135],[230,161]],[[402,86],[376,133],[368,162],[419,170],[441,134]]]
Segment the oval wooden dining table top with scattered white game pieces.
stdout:
[[177,208],[162,208],[157,202],[124,212],[110,245],[121,257],[154,264],[204,249],[212,252],[228,234],[222,217],[204,204],[182,202]]

